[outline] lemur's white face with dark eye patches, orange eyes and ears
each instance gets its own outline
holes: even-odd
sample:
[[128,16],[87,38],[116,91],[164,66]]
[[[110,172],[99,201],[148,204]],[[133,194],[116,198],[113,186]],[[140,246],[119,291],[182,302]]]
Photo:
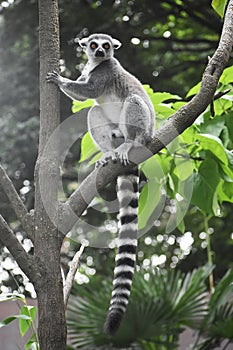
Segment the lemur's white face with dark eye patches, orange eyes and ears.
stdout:
[[87,57],[94,60],[107,60],[114,54],[114,49],[121,46],[120,41],[106,34],[93,34],[79,41]]

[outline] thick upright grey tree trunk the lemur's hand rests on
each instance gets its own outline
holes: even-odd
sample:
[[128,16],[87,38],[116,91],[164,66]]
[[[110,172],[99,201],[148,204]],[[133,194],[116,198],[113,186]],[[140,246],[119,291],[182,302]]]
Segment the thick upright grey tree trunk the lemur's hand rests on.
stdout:
[[53,219],[57,212],[59,179],[58,141],[48,147],[59,126],[59,92],[46,83],[47,72],[59,68],[57,0],[39,0],[40,140],[35,169],[34,253],[39,268],[35,281],[38,296],[38,336],[41,350],[66,349],[66,320],[60,269],[61,239]]

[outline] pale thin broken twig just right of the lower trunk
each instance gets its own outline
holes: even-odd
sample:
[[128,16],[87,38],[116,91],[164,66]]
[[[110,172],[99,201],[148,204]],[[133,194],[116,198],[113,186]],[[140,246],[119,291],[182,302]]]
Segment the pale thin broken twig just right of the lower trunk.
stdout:
[[66,281],[65,281],[65,285],[64,285],[64,304],[65,304],[65,306],[67,306],[70,291],[71,291],[72,284],[74,281],[74,277],[75,277],[75,274],[76,274],[78,267],[79,267],[80,257],[82,255],[85,247],[86,247],[86,245],[82,244],[79,251],[74,255],[72,261],[70,262],[70,269],[69,269],[69,272],[66,276]]

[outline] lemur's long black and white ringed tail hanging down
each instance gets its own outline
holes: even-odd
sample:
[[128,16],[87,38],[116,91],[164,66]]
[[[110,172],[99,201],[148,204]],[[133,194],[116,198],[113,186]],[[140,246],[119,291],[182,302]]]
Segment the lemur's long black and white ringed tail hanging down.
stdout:
[[113,335],[119,328],[129,301],[138,238],[138,169],[119,176],[117,197],[120,205],[118,252],[115,259],[113,291],[104,330]]

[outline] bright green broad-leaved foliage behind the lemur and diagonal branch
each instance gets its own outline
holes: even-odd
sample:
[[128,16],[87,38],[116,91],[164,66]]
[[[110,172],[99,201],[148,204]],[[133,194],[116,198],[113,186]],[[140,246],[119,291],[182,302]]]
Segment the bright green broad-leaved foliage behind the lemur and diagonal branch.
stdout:
[[[163,190],[176,202],[175,223],[168,222],[168,231],[172,231],[176,225],[184,230],[183,218],[189,204],[197,206],[207,215],[219,215],[223,201],[233,202],[231,73],[232,67],[227,68],[221,78],[219,91],[228,89],[228,94],[214,102],[215,116],[212,117],[208,109],[167,149],[141,165],[147,184],[139,201],[140,229],[147,227],[151,217],[155,218],[155,213],[157,216],[161,213]],[[159,127],[183,102],[177,95],[153,92],[149,86],[145,86],[145,89],[157,112]],[[199,84],[191,89],[188,96],[198,89]],[[81,108],[81,105],[78,106]],[[96,146],[87,133],[82,140],[81,161],[88,161],[96,152]]]

